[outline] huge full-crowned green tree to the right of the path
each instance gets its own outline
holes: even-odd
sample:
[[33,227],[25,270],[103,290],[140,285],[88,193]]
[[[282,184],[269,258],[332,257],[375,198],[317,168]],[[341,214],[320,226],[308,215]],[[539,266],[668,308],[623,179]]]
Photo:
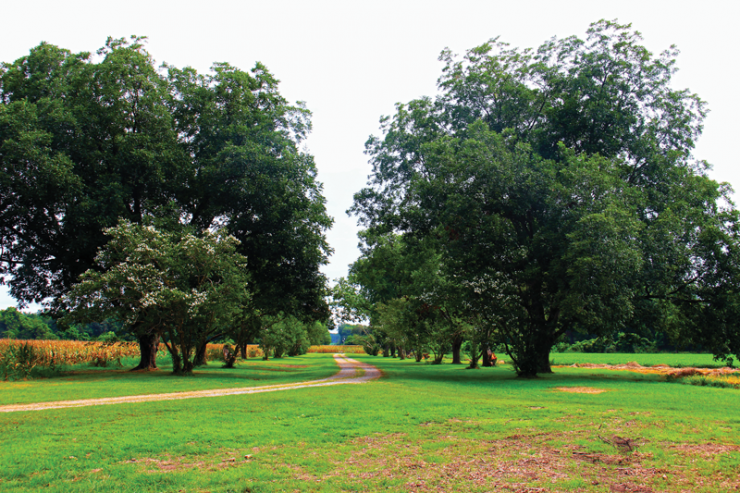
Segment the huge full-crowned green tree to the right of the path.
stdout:
[[536,50],[443,51],[441,95],[398,105],[367,142],[351,210],[373,234],[438,239],[475,330],[519,375],[549,372],[567,330],[737,347],[737,214],[691,154],[705,105],[670,87],[675,48],[640,39],[599,21]]

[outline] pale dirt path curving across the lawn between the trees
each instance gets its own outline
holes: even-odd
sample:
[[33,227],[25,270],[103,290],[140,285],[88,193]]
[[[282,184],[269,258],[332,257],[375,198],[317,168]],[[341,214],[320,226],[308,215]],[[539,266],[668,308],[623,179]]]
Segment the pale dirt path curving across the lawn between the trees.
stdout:
[[109,404],[126,404],[131,402],[174,401],[180,399],[196,399],[199,397],[219,397],[222,395],[258,394],[260,392],[277,392],[280,390],[304,389],[308,387],[365,383],[370,380],[380,378],[380,370],[367,363],[347,358],[343,354],[335,354],[334,360],[339,365],[339,372],[322,380],[311,380],[308,382],[295,382],[282,385],[265,385],[262,387],[195,390],[193,392],[130,395],[123,397],[104,397],[101,399],[82,399],[77,401],[39,402],[35,404],[11,404],[0,406],[0,413],[43,411],[45,409],[61,409],[66,407],[105,406]]

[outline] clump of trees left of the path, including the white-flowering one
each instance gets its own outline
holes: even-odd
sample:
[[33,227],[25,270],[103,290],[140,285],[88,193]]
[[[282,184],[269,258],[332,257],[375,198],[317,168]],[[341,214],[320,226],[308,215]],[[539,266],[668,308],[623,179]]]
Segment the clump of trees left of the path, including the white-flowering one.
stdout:
[[0,281],[66,323],[125,323],[140,369],[160,340],[189,371],[224,327],[246,348],[267,320],[326,320],[310,128],[259,63],[199,74],[155,67],[139,37],[42,43],[0,68]]

